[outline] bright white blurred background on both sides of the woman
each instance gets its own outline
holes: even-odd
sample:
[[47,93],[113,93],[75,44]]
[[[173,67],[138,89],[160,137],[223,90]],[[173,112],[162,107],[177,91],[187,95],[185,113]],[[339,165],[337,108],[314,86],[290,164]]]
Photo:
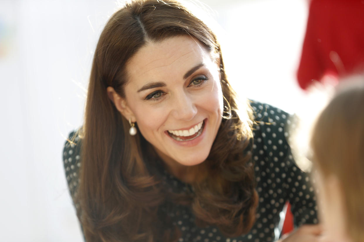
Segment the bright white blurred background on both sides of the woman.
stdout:
[[[295,73],[307,1],[202,3],[221,26],[238,93],[295,112],[305,100]],[[93,52],[117,8],[115,0],[0,0],[0,241],[83,241],[62,149],[82,125]]]

